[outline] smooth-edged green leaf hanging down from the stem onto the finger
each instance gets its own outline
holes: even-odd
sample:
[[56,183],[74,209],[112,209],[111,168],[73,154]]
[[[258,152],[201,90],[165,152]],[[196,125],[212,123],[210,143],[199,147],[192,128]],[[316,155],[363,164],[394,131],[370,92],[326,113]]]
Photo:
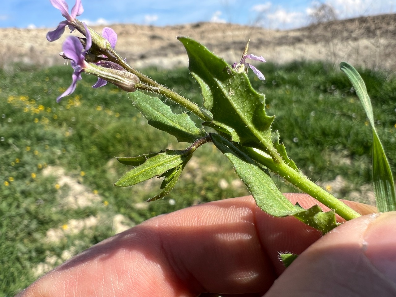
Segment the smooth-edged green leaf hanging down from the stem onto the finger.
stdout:
[[210,133],[210,137],[215,146],[231,161],[236,174],[245,183],[259,208],[276,217],[301,211],[300,207],[294,206],[282,195],[271,177],[247,154],[218,134]]

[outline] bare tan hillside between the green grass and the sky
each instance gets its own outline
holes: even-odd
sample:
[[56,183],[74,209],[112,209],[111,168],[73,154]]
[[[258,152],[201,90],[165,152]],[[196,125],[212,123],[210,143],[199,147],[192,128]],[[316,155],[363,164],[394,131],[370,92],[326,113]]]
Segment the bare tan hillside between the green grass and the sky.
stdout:
[[[322,60],[338,65],[396,70],[396,14],[359,17],[310,25],[295,30],[267,30],[235,24],[195,23],[168,27],[111,25],[118,33],[116,50],[136,68],[188,65],[176,36],[190,36],[233,63],[240,59],[247,39],[250,53],[267,61]],[[55,25],[54,25],[55,28]],[[94,27],[101,32],[102,27]],[[58,53],[68,32],[55,42],[46,40],[48,29],[0,29],[0,67],[15,62],[50,66],[63,64]]]

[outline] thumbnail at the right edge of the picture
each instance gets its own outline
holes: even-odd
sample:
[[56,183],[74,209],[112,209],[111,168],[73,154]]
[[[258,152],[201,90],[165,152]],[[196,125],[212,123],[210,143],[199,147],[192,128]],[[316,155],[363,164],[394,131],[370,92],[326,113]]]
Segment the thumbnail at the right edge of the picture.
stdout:
[[367,227],[364,240],[367,258],[396,284],[396,211],[379,215]]

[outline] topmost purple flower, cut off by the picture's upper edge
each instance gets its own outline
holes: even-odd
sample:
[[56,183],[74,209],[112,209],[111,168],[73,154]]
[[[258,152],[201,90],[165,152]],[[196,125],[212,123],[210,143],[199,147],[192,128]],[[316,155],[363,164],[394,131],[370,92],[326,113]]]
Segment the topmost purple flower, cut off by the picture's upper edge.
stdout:
[[61,21],[58,27],[47,33],[47,40],[54,41],[61,37],[62,33],[65,31],[66,25],[69,26],[70,33],[73,32],[76,28],[73,25],[74,19],[81,15],[84,12],[84,8],[82,7],[81,0],[76,0],[76,4],[74,4],[72,8],[71,14],[69,14],[69,6],[67,5],[65,0],[49,0],[53,7],[59,9],[65,17],[66,21]]

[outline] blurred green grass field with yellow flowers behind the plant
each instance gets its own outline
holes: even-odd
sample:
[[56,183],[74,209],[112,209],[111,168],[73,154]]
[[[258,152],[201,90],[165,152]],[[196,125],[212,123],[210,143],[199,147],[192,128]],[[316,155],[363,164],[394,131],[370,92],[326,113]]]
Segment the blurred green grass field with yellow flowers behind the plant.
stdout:
[[[266,81],[250,73],[253,87],[266,94],[267,112],[276,115],[273,128],[297,166],[313,181],[341,175],[345,185],[335,192],[339,198],[369,190],[371,129],[346,76],[319,62],[266,63],[261,70]],[[395,174],[396,78],[359,71]],[[187,69],[143,72],[200,103],[198,84]],[[210,143],[197,150],[163,200],[142,203],[158,192],[158,181],[114,187],[128,170],[114,156],[187,144],[149,126],[127,93],[111,85],[90,88],[95,80],[83,75],[76,91],[58,104],[55,98],[71,82],[70,67],[0,71],[0,296],[12,296],[40,272],[113,235],[115,215],[132,226],[160,213],[247,194],[228,160]],[[57,176],[59,169],[73,183]],[[274,179],[282,191],[295,191]],[[74,186],[91,197],[88,205],[67,200]],[[77,228],[81,222],[85,226]],[[54,232],[61,234],[58,240],[49,239]]]

